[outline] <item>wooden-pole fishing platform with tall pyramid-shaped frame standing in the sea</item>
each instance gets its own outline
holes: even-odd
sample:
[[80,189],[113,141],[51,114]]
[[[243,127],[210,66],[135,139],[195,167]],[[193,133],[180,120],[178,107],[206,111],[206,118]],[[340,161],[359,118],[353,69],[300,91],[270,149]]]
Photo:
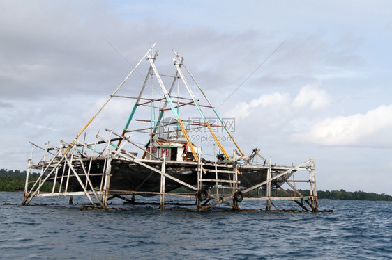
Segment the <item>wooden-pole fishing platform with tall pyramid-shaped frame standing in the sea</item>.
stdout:
[[[108,202],[119,199],[132,206],[156,203],[159,209],[240,211],[246,209],[244,201],[253,200],[264,202],[261,208],[267,211],[285,210],[276,209],[273,201],[290,201],[300,211],[317,212],[314,159],[277,165],[260,149],[244,153],[183,58],[175,53],[174,73],[160,73],[153,47],[73,140],[45,147],[31,143],[22,204],[39,197],[72,200],[80,195],[89,201],[89,209],[109,209]],[[136,76],[139,95],[132,95],[134,88],[125,83],[142,70],[145,76]],[[86,132],[93,132],[91,122],[116,100],[133,102],[128,120],[119,119],[126,121],[125,127],[98,129],[95,138],[86,141]],[[211,142],[198,143],[200,135]],[[229,142],[223,143],[223,137]],[[40,172],[38,179],[29,179],[33,170]],[[44,184],[51,189],[43,190]],[[304,185],[308,194],[300,193]],[[159,201],[144,201],[151,196]],[[173,197],[180,202],[172,203]]]

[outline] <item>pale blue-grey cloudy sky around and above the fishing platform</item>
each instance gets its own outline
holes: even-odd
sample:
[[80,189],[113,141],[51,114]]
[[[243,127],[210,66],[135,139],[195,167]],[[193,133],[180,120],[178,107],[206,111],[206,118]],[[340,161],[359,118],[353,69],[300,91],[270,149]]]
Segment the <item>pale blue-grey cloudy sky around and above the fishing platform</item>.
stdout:
[[[26,170],[29,141],[73,140],[156,43],[160,70],[173,74],[178,52],[234,118],[245,154],[258,147],[278,165],[312,157],[319,190],[392,195],[390,10],[391,1],[0,0],[0,168]],[[145,73],[121,90],[136,96]],[[132,106],[110,103],[94,135],[121,132]]]

